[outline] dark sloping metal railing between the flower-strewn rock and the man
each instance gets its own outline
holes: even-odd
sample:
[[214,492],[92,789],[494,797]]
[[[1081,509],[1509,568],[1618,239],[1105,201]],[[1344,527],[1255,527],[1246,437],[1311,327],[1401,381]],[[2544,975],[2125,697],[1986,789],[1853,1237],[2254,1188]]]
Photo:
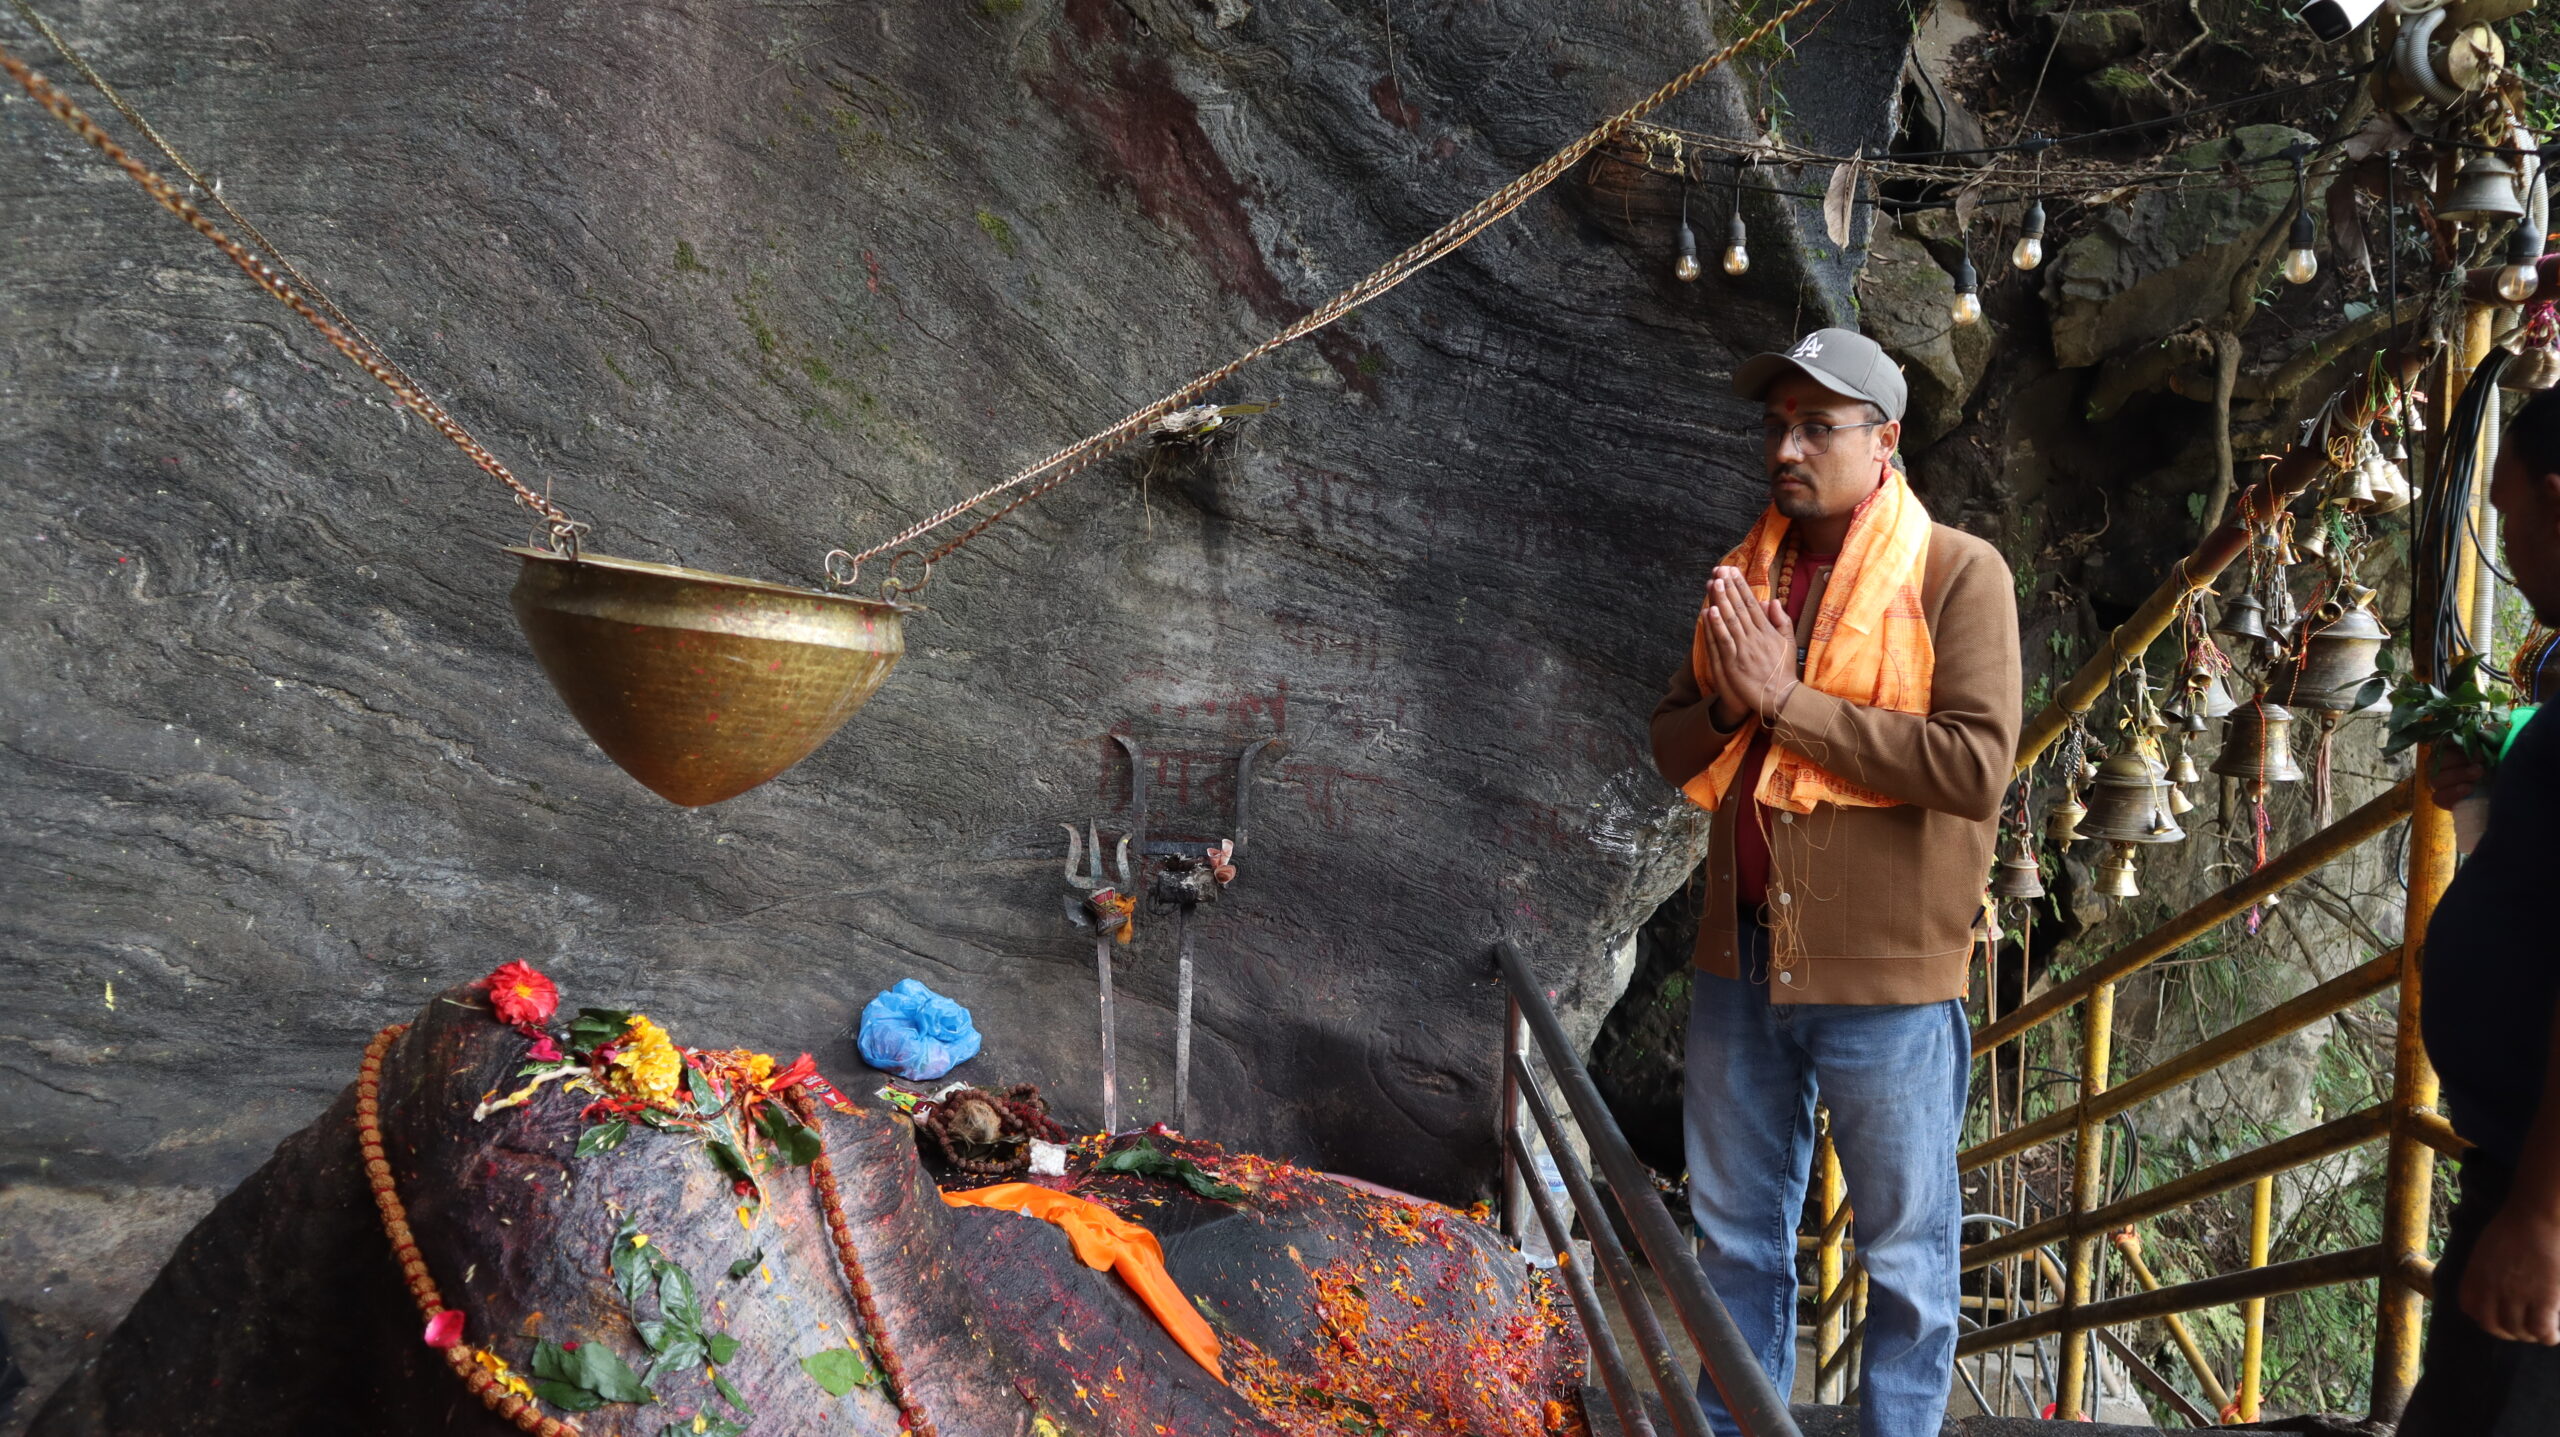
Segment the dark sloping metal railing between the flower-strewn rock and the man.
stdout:
[[1636,1276],[1636,1263],[1618,1242],[1618,1227],[1582,1171],[1582,1160],[1574,1158],[1574,1148],[1564,1140],[1564,1127],[1546,1099],[1546,1086],[1528,1063],[1531,1043],[1536,1043],[1539,1058],[1554,1076],[1556,1089],[1562,1089],[1567,1112],[1582,1130],[1582,1140],[1590,1145],[1600,1173],[1608,1178],[1610,1196],[1618,1201],[1628,1232],[1636,1235],[1636,1247],[1672,1299],[1672,1311],[1679,1314],[1679,1327],[1697,1350],[1700,1373],[1715,1386],[1725,1411],[1733,1414],[1743,1437],[1802,1437],[1795,1417],[1787,1414],[1787,1396],[1777,1391],[1769,1373],[1761,1370],[1759,1358],[1743,1345],[1733,1317],[1725,1314],[1725,1304],[1708,1291],[1687,1240],[1679,1237],[1679,1224],[1672,1222],[1672,1214],[1654,1196],[1651,1173],[1636,1160],[1626,1135],[1618,1132],[1618,1119],[1600,1101],[1600,1089],[1592,1086],[1590,1071],[1582,1068],[1582,1055],[1564,1037],[1564,1025],[1556,1022],[1556,1012],[1546,1004],[1546,991],[1539,986],[1536,973],[1528,971],[1521,950],[1510,943],[1498,943],[1492,961],[1503,976],[1503,986],[1510,991],[1510,1017],[1503,1025],[1503,1230],[1521,1237],[1528,1214],[1536,1214],[1546,1230],[1546,1240],[1556,1253],[1556,1271],[1564,1276],[1564,1288],[1582,1317],[1582,1335],[1590,1342],[1592,1365],[1600,1370],[1600,1386],[1618,1411],[1618,1429],[1628,1437],[1656,1437],[1651,1414],[1628,1376],[1626,1358],[1618,1352],[1608,1309],[1600,1306],[1600,1294],[1592,1288],[1590,1273],[1574,1263],[1572,1222],[1556,1212],[1546,1183],[1531,1181],[1536,1163],[1528,1132],[1521,1130],[1523,1114],[1546,1145],[1556,1176],[1564,1178],[1564,1196],[1572,1201],[1572,1214],[1582,1219],[1592,1258],[1608,1281],[1618,1311],[1626,1317],[1628,1332],[1644,1350],[1644,1370],[1661,1393],[1672,1429],[1679,1437],[1710,1437],[1697,1391],[1690,1386],[1687,1370],[1679,1365],[1661,1329],[1661,1319]]

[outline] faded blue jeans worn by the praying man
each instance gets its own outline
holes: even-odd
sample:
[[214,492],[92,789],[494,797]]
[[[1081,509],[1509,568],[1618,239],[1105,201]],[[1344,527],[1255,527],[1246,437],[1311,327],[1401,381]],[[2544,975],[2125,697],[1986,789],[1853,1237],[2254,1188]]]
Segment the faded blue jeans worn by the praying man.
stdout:
[[[1743,973],[1769,932],[1743,922]],[[1769,984],[1695,973],[1684,1122],[1697,1268],[1779,1396],[1795,1388],[1795,1235],[1812,1104],[1856,1209],[1866,1265],[1861,1437],[1938,1437],[1956,1370],[1956,1135],[1971,1073],[1964,1004],[1772,1004]],[[1718,1434],[1733,1417],[1700,1373]]]

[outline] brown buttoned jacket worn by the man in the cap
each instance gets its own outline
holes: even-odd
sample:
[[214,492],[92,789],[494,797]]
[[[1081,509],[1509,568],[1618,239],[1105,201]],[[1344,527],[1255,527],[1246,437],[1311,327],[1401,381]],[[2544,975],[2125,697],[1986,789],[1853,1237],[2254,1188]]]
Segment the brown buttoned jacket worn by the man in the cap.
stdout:
[[[1784,971],[1769,973],[1772,1002],[1928,1004],[1966,994],[1999,799],[2017,753],[2017,594],[1997,548],[1930,525],[1920,605],[1938,651],[1928,717],[1853,704],[1810,684],[1779,704],[1777,743],[1902,804],[1772,815],[1769,902],[1792,904],[1800,948]],[[1805,605],[1797,653],[1818,607],[1820,594]],[[1687,784],[1736,738],[1738,730],[1715,727],[1710,694],[1682,661],[1654,710],[1654,766]],[[1733,825],[1761,815],[1751,802],[1756,779],[1733,781],[1708,830],[1695,963],[1725,978],[1741,976]],[[1784,891],[1779,873],[1800,891]]]

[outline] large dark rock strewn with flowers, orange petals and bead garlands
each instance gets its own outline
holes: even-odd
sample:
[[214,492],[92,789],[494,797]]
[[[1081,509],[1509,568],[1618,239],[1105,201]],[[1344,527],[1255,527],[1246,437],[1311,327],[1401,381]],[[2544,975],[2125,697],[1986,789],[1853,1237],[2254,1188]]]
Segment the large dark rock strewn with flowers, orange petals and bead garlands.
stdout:
[[[458,1317],[412,1299],[348,1089],[187,1235],[33,1434],[891,1437],[901,1396],[950,1437],[1585,1432],[1562,1294],[1459,1212],[1170,1132],[1073,1142],[1037,1181],[1160,1237],[1221,1381],[1065,1230],[947,1206],[901,1112],[788,1096],[799,1073],[599,1009],[509,1027],[451,989],[389,1043],[379,1130]],[[1137,1171],[1096,1165],[1139,1145]],[[520,1417],[456,1368],[512,1383]]]

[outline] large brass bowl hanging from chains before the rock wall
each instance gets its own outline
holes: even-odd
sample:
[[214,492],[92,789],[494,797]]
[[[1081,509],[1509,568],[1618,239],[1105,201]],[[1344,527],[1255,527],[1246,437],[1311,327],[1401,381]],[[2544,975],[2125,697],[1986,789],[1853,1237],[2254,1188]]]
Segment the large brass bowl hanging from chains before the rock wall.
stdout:
[[515,622],[625,774],[701,807],[845,727],[906,651],[899,607],[673,564],[509,548]]

